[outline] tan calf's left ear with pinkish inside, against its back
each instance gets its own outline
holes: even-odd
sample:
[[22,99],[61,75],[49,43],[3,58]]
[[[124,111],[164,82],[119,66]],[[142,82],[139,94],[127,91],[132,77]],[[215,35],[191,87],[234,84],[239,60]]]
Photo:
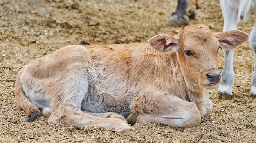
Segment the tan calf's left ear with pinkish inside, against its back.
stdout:
[[177,52],[178,40],[169,34],[159,34],[148,40],[149,47],[166,54]]

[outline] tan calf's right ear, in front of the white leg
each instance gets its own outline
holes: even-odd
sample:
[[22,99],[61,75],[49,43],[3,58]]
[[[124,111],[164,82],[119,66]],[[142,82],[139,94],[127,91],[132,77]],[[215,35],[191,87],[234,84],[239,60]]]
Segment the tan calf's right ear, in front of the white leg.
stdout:
[[225,50],[237,48],[249,40],[249,35],[240,30],[228,30],[215,33],[215,37],[220,43],[220,47]]

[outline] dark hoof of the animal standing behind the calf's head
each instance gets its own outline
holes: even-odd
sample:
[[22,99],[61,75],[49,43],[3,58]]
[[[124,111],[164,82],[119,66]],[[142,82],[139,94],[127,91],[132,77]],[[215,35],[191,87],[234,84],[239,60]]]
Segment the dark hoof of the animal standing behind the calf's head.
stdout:
[[178,15],[172,15],[166,22],[164,22],[163,26],[187,26],[189,25],[189,17],[184,15],[184,17],[180,17]]

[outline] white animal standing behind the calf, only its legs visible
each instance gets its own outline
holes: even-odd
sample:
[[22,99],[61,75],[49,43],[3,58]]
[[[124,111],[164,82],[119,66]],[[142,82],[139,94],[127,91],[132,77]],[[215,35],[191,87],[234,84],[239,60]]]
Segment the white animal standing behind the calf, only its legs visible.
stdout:
[[[223,31],[237,30],[238,22],[246,22],[251,13],[256,15],[256,0],[220,0],[220,7],[224,17]],[[256,22],[254,28],[250,33],[250,45],[256,56]],[[218,88],[218,94],[222,93],[222,99],[230,99],[232,96],[232,86],[234,85],[234,72],[233,72],[233,50],[224,50],[224,67],[222,70],[222,80]],[[256,62],[254,72],[252,73],[252,87],[250,95],[256,96]]]

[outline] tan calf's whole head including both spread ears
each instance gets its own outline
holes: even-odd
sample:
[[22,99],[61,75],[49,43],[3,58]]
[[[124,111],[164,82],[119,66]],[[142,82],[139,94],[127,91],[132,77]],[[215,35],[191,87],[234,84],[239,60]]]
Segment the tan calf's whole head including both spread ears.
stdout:
[[165,54],[176,53],[177,66],[185,81],[195,81],[200,87],[213,89],[222,81],[217,64],[219,48],[231,50],[248,41],[249,35],[239,30],[212,32],[197,24],[182,27],[175,35],[159,34],[148,45]]

